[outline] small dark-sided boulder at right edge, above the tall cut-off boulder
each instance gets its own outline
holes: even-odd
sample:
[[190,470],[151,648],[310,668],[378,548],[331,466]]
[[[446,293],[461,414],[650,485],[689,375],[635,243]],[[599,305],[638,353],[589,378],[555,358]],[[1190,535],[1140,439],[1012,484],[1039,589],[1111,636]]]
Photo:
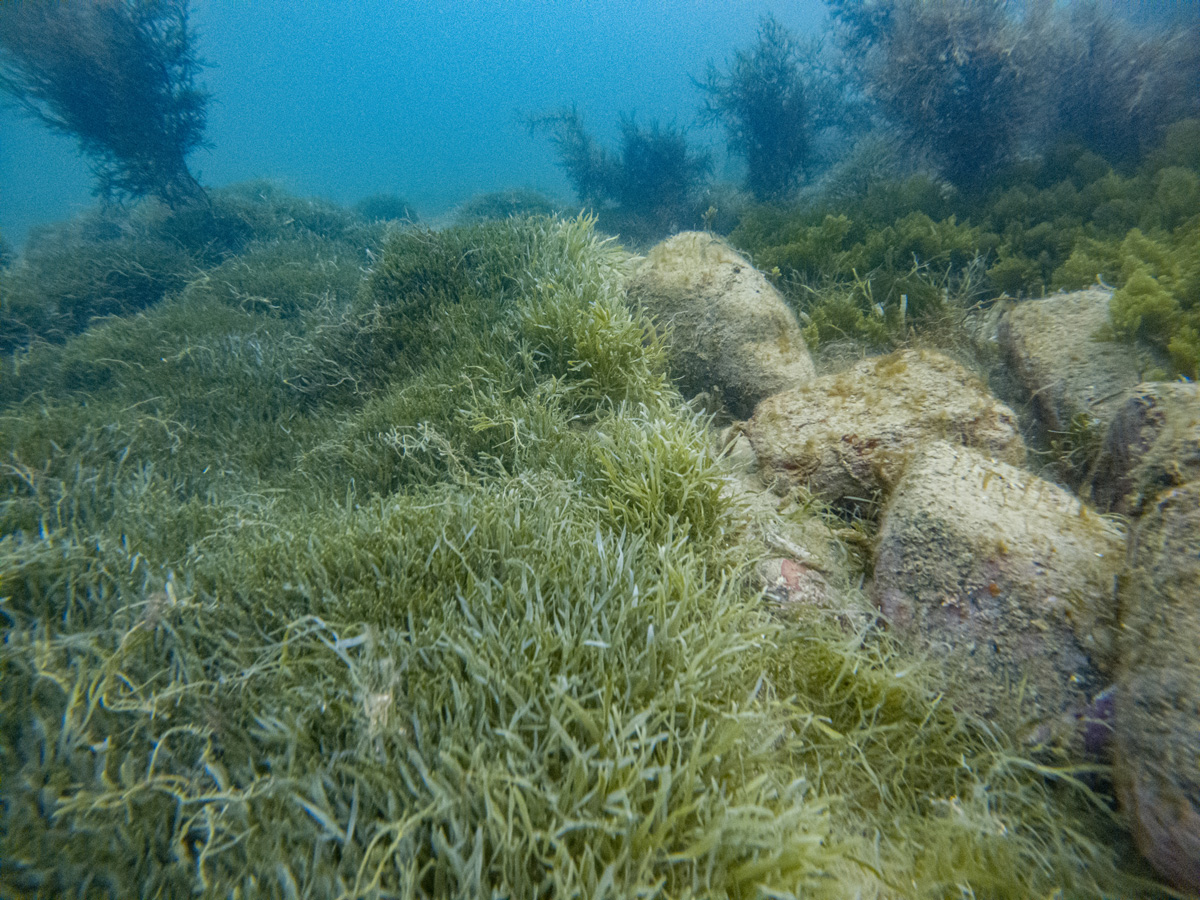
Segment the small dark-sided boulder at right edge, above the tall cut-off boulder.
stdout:
[[1139,384],[1117,410],[1092,475],[1103,509],[1139,515],[1163,492],[1200,479],[1200,385]]

